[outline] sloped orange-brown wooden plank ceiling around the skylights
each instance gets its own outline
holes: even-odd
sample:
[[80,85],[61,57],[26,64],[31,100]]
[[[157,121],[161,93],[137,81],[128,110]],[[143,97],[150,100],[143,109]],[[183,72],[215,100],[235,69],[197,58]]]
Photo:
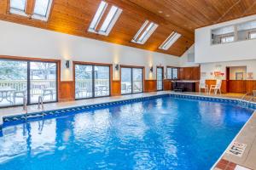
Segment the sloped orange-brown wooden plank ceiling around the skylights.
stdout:
[[[101,0],[53,0],[48,22],[9,14],[9,0],[1,0],[0,20],[181,56],[194,43],[196,28],[256,14],[256,0],[105,1],[123,9],[108,37],[87,31]],[[154,21],[159,27],[145,44],[131,42],[145,20]],[[172,31],[182,37],[169,50],[159,49]]]

